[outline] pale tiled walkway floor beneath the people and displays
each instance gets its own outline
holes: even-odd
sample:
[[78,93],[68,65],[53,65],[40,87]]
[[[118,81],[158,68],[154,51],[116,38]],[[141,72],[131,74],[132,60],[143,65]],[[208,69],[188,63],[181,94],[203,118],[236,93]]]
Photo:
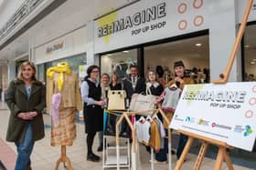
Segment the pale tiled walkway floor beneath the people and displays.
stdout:
[[[4,103],[0,102],[0,159],[2,162],[8,159],[15,159],[16,146],[13,143],[5,143],[5,134],[8,123],[9,111]],[[49,115],[44,115],[45,121],[45,130],[46,137],[43,140],[40,140],[36,143],[34,152],[31,156],[32,159],[32,169],[33,170],[53,170],[56,165],[56,161],[59,159],[60,155],[60,147],[55,146],[52,147],[49,145],[50,140],[50,117]],[[84,125],[82,123],[77,123],[77,139],[74,142],[74,145],[68,147],[68,156],[71,160],[72,166],[74,170],[81,169],[90,169],[90,170],[101,170],[102,162],[92,163],[86,160],[86,145],[85,145],[85,134],[84,134]],[[2,139],[2,140],[1,140]],[[94,151],[96,151],[97,146],[99,145],[98,136],[95,137]],[[2,150],[3,149],[3,150]],[[11,154],[5,154],[5,152]],[[101,155],[101,153],[97,153]],[[140,155],[142,165],[138,170],[141,169],[150,169],[150,155],[146,153],[144,146],[140,147]],[[196,159],[196,155],[189,154],[187,155],[187,161],[183,165],[184,170],[193,169],[194,162]],[[173,167],[176,164],[176,156],[172,157]],[[7,170],[12,170],[14,166],[14,162],[4,162],[5,166],[8,167]],[[205,158],[202,168],[203,170],[213,169],[215,164],[215,160]],[[252,170],[250,168],[241,167],[238,165],[234,165],[235,170]],[[1,169],[1,168],[0,168]],[[65,169],[62,165],[59,166],[59,170]],[[167,165],[159,165],[155,164],[155,169],[167,170]],[[228,169],[226,164],[223,164],[223,169]],[[255,167],[256,169],[256,167]]]

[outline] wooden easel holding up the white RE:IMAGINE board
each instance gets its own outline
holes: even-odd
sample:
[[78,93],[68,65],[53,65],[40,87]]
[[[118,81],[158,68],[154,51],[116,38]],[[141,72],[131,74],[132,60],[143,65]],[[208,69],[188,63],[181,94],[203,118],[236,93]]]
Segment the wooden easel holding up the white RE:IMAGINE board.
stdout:
[[[234,63],[234,59],[235,59],[235,57],[238,53],[240,41],[241,41],[242,35],[244,33],[245,26],[247,24],[248,16],[250,15],[252,3],[253,3],[253,0],[248,0],[248,4],[247,4],[246,10],[245,10],[245,13],[243,15],[243,19],[242,19],[242,22],[241,22],[241,25],[240,25],[238,36],[236,38],[235,44],[233,45],[233,49],[232,49],[232,52],[231,52],[231,55],[230,55],[230,58],[229,58],[229,63],[226,67],[225,72],[219,75],[219,80],[213,81],[213,83],[215,83],[215,84],[225,84],[225,83],[228,82],[230,70],[231,70],[232,65]],[[184,151],[183,151],[181,157],[179,158],[179,160],[176,164],[175,170],[180,170],[181,169],[181,166],[183,165],[183,163],[185,161],[186,155],[187,155],[187,153],[188,153],[188,151],[189,151],[189,149],[190,149],[190,147],[191,147],[191,145],[192,145],[192,143],[195,139],[201,140],[203,144],[200,147],[200,151],[199,151],[199,154],[197,156],[197,161],[196,161],[196,164],[194,165],[194,170],[199,170],[200,169],[200,166],[202,165],[202,161],[203,161],[203,159],[204,159],[204,157],[207,153],[207,149],[208,149],[209,144],[219,146],[219,152],[218,152],[218,155],[217,155],[214,170],[220,170],[222,168],[222,162],[223,162],[224,159],[225,159],[225,161],[226,161],[226,163],[229,167],[229,170],[234,169],[234,167],[231,163],[231,160],[229,158],[229,154],[227,153],[227,149],[228,148],[232,149],[233,148],[232,146],[227,145],[226,143],[220,142],[218,140],[202,136],[202,135],[192,134],[192,133],[182,131],[182,130],[178,130],[178,132],[180,132],[184,135],[187,135],[188,140],[187,140],[187,145],[185,146]]]

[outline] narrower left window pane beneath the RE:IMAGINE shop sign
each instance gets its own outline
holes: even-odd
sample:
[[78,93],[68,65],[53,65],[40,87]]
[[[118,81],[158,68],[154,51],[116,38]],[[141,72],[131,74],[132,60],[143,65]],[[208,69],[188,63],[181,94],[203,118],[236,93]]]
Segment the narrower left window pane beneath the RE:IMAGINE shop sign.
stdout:
[[137,49],[101,55],[101,74],[116,72],[119,78],[124,78],[129,75],[130,65],[137,65]]

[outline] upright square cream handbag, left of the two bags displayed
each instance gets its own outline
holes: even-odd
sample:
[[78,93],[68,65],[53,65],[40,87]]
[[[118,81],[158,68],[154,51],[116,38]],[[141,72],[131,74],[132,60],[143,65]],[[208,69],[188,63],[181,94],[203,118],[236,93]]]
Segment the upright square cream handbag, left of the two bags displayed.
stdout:
[[108,110],[125,110],[126,92],[124,90],[108,91]]

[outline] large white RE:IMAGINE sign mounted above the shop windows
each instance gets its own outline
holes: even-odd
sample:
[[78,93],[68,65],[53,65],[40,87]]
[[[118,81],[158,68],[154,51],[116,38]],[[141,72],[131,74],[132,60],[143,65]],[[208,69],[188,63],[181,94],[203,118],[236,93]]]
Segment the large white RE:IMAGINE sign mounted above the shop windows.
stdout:
[[95,53],[208,29],[208,8],[219,3],[220,0],[138,1],[94,21]]

